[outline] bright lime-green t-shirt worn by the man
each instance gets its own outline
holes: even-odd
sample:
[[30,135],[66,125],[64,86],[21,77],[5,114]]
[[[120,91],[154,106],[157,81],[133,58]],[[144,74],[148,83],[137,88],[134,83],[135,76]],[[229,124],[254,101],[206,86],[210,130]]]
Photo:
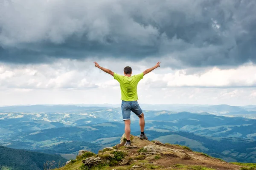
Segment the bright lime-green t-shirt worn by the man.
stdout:
[[131,77],[114,73],[114,79],[120,83],[121,100],[135,101],[138,99],[137,85],[143,79],[143,73]]

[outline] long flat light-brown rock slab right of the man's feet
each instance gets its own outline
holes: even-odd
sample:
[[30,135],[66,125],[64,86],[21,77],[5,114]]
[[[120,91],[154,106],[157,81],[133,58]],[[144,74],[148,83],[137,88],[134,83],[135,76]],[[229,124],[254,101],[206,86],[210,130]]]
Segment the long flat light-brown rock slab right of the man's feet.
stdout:
[[149,144],[143,148],[147,150],[145,154],[153,152],[153,153],[160,153],[161,155],[173,156],[173,157],[179,157],[179,158],[184,158],[187,156],[186,153],[183,153],[183,150],[172,149],[169,147],[163,147],[159,145]]

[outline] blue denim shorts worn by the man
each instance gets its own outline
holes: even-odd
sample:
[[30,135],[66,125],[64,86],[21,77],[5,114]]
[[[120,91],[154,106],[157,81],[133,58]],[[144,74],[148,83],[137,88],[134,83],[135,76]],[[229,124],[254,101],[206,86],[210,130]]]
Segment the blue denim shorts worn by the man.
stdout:
[[123,120],[131,119],[131,111],[135,113],[137,116],[140,116],[143,113],[137,101],[128,102],[128,101],[122,100],[121,108],[122,108]]

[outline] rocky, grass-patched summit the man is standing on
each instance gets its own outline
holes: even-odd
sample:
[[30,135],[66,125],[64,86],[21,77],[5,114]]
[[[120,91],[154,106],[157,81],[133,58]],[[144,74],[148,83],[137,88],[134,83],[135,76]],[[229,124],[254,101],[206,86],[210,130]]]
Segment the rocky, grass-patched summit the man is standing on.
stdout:
[[131,135],[131,146],[125,147],[125,134],[120,143],[99,150],[98,154],[80,150],[76,160],[56,170],[241,170],[241,165],[227,163],[189,147],[142,140]]

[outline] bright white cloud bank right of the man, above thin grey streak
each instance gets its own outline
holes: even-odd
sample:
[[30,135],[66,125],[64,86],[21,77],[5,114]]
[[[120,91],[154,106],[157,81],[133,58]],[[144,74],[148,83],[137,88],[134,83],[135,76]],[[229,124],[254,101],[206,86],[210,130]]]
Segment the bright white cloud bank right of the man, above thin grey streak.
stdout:
[[150,73],[145,85],[151,87],[253,87],[256,86],[256,65],[247,64],[238,68],[220,69],[212,68],[186,74],[186,70],[177,70],[174,73],[155,74]]

